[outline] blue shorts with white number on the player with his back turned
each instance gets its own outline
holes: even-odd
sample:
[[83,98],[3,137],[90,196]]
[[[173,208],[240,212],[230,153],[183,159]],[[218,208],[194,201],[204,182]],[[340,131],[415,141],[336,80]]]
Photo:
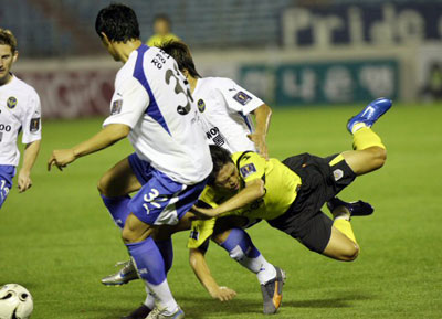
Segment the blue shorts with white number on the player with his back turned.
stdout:
[[149,225],[175,225],[198,201],[207,179],[186,185],[143,161],[136,153],[129,156],[130,168],[143,185],[130,200],[129,210]]

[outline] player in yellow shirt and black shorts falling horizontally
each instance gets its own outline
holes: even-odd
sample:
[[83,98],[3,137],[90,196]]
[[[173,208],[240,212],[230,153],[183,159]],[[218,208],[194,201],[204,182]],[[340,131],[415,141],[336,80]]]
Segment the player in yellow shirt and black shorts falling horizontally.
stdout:
[[[386,98],[370,103],[347,125],[355,150],[327,158],[303,153],[283,162],[266,161],[254,152],[230,156],[212,147],[209,187],[192,211],[202,219],[225,214],[264,219],[311,251],[354,260],[359,246],[350,216],[371,214],[372,209],[364,202],[348,205],[336,195],[357,176],[383,166],[386,147],[371,126],[390,107],[391,100]],[[326,202],[334,220],[320,211]],[[202,203],[208,206],[201,208]]]

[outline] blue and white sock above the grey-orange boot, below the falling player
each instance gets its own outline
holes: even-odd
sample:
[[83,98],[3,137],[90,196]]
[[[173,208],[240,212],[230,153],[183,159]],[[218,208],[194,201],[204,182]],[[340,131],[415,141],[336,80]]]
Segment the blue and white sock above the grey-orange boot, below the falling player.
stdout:
[[256,274],[260,284],[265,284],[276,276],[275,267],[270,264],[253,245],[249,234],[241,228],[232,228],[228,238],[221,244],[230,255],[243,267]]

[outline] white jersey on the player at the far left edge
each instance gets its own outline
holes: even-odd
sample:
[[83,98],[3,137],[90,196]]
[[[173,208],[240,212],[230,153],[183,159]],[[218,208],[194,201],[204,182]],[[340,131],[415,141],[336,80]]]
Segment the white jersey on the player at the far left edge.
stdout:
[[0,86],[0,164],[18,166],[17,138],[30,143],[41,139],[41,106],[35,89],[14,75]]

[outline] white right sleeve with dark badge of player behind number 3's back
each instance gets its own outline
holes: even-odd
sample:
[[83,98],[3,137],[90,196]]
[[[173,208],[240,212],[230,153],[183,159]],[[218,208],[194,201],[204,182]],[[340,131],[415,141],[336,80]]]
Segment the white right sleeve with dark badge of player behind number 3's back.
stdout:
[[241,111],[243,115],[250,114],[264,104],[262,99],[231,79],[224,82],[218,89],[223,95],[228,108],[234,111]]

